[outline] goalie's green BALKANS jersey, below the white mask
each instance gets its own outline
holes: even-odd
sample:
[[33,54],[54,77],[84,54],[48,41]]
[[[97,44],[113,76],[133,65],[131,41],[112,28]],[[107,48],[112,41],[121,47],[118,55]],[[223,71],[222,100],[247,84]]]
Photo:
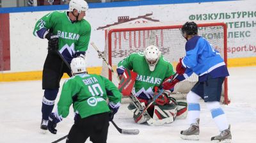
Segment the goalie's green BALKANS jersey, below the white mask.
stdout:
[[120,61],[117,71],[124,69],[138,73],[134,84],[134,92],[136,96],[143,99],[152,98],[154,86],[159,87],[164,79],[174,74],[172,64],[166,61],[163,56],[160,57],[155,70],[151,72],[143,52],[131,54]]

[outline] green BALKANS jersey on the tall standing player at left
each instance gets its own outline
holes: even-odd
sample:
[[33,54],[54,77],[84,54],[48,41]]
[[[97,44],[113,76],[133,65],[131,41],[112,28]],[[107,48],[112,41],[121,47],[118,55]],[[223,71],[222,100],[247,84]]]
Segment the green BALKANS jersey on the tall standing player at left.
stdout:
[[86,51],[91,26],[88,21],[72,22],[66,11],[52,11],[36,22],[33,34],[45,38],[47,31],[59,36],[59,51],[70,62],[75,52]]

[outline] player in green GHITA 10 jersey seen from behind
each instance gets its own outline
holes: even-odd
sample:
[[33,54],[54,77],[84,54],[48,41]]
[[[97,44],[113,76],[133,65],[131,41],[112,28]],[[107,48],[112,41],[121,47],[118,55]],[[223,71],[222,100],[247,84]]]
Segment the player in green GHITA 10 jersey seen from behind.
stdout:
[[[55,112],[49,115],[48,130],[56,134],[56,124],[68,116],[73,106],[75,123],[68,133],[67,142],[106,143],[109,121],[120,107],[122,94],[105,77],[86,73],[83,57],[72,59],[73,77],[63,84],[60,100]],[[108,102],[107,102],[108,100]]]

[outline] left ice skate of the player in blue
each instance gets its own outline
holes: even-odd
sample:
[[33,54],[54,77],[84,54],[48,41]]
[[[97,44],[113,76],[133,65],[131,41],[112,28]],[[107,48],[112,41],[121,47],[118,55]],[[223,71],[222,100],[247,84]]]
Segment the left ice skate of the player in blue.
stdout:
[[190,124],[188,130],[180,132],[180,137],[184,140],[199,140],[199,133],[199,119],[196,119],[196,123]]

